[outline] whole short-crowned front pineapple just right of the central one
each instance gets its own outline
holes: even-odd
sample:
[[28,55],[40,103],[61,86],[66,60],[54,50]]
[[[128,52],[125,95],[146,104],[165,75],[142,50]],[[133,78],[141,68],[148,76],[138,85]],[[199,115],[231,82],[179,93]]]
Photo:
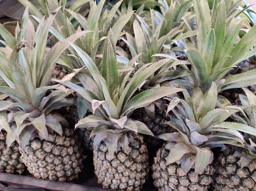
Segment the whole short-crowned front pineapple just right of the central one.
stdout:
[[211,148],[243,146],[244,138],[237,130],[256,132],[243,124],[224,122],[239,107],[215,109],[218,93],[214,82],[205,95],[199,88],[193,90],[192,97],[185,91],[183,95],[185,101],[175,97],[168,107],[175,117],[167,124],[178,132],[159,136],[167,141],[152,166],[154,185],[159,190],[207,190],[215,171]]

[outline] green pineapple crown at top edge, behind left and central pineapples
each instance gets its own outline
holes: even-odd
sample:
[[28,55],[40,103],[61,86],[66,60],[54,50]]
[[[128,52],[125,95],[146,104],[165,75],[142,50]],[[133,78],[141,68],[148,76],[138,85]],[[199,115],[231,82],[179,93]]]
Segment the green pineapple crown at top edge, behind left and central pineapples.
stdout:
[[[31,4],[28,0],[22,0],[21,2],[23,5]],[[89,16],[86,17],[88,14],[87,11],[78,11],[82,5],[88,2],[90,3],[90,12]],[[64,40],[65,38],[74,35],[77,31],[81,31],[81,28],[87,31],[88,34],[80,37],[74,42],[74,44],[82,48],[83,51],[89,54],[92,60],[96,62],[98,49],[103,44],[103,41],[106,38],[110,28],[113,31],[114,40],[116,42],[118,38],[122,36],[121,31],[123,27],[133,15],[133,11],[131,10],[116,18],[116,13],[118,12],[122,1],[117,2],[113,7],[111,7],[111,9],[105,9],[105,2],[106,1],[103,0],[96,4],[96,2],[91,0],[76,1],[71,6],[68,6],[66,1],[49,0],[47,3],[43,4],[41,1],[38,1],[38,4],[40,4],[40,7],[43,6],[43,14],[46,16],[50,15],[51,11],[62,5],[63,7],[61,11],[56,13],[57,16],[55,23],[57,28],[55,29],[52,27],[50,30],[51,34],[57,39]],[[38,10],[34,6],[30,6],[29,8],[29,11],[36,15],[33,16],[33,18],[39,22],[40,18],[43,17],[42,10]],[[59,59],[60,64],[66,65],[71,69],[81,68],[84,66],[83,62],[80,59],[77,59],[79,56],[76,54],[73,48],[68,48],[68,54],[74,56],[61,56]]]

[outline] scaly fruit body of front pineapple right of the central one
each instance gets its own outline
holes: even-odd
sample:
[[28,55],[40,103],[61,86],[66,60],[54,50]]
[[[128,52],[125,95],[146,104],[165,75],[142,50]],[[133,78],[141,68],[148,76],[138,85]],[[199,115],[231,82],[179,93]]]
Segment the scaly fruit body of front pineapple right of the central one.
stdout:
[[206,191],[212,183],[212,176],[214,168],[212,165],[207,165],[204,172],[200,175],[195,175],[194,169],[190,169],[188,173],[181,170],[181,162],[166,165],[165,158],[169,154],[165,145],[162,145],[154,157],[152,165],[153,171],[153,184],[159,191],[172,191],[172,190],[197,190]]

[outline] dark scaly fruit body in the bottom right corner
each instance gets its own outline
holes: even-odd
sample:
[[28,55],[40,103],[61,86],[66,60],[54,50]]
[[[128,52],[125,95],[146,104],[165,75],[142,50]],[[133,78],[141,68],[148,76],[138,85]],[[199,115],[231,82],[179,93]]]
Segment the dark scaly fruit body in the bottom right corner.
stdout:
[[232,147],[226,148],[215,163],[215,189],[218,190],[256,190],[256,165],[249,162],[241,168],[241,157],[235,155]]

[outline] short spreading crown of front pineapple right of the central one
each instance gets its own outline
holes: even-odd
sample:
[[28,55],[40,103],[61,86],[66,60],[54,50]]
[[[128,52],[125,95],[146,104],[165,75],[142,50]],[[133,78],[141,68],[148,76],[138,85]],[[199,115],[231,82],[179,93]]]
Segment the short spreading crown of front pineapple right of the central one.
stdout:
[[[177,132],[158,136],[169,142],[166,145],[166,149],[170,150],[167,164],[182,159],[181,167],[185,172],[195,164],[195,173],[201,173],[212,163],[211,148],[224,144],[243,146],[244,137],[239,131],[250,131],[255,135],[256,130],[252,127],[225,121],[241,110],[238,106],[215,109],[217,86],[214,82],[204,95],[199,88],[193,90],[191,97],[187,91],[183,91],[183,95],[185,100],[173,98],[167,110],[172,110],[175,116],[170,116],[167,124]],[[188,158],[190,160],[184,160]]]

